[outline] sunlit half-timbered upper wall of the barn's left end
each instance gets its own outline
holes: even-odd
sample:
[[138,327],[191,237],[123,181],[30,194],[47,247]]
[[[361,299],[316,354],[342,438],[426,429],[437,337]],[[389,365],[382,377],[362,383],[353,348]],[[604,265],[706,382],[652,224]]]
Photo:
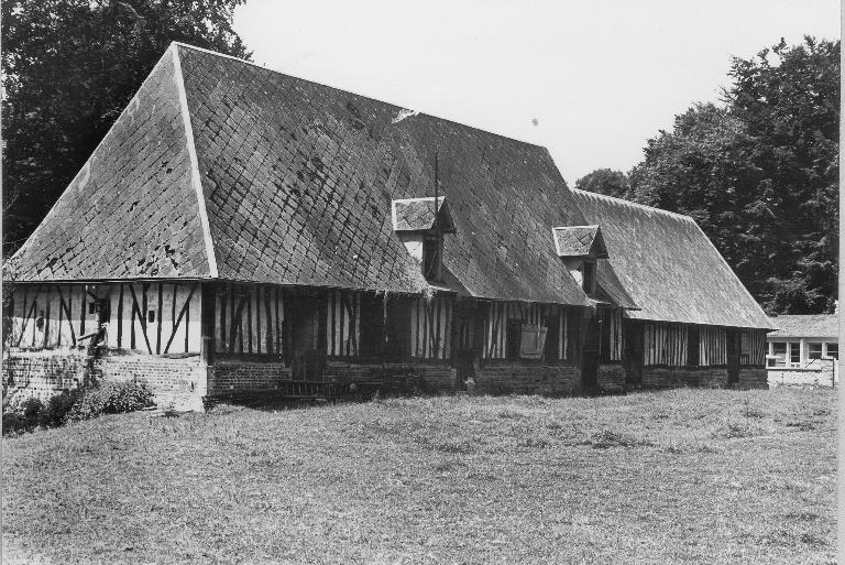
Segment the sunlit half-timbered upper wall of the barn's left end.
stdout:
[[109,348],[153,355],[200,350],[198,283],[19,284],[7,314],[10,347],[85,346],[89,341],[80,338],[97,332],[102,317]]

